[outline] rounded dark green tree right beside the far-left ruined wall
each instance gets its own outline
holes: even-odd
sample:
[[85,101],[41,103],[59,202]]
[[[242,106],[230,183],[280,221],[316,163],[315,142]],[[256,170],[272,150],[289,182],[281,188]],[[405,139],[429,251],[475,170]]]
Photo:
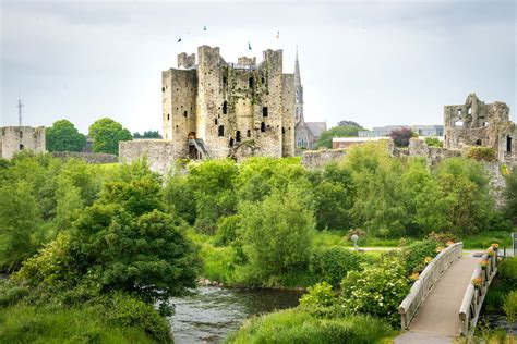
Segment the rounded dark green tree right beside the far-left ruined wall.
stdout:
[[81,151],[86,144],[86,137],[68,120],[53,122],[45,136],[48,151]]

